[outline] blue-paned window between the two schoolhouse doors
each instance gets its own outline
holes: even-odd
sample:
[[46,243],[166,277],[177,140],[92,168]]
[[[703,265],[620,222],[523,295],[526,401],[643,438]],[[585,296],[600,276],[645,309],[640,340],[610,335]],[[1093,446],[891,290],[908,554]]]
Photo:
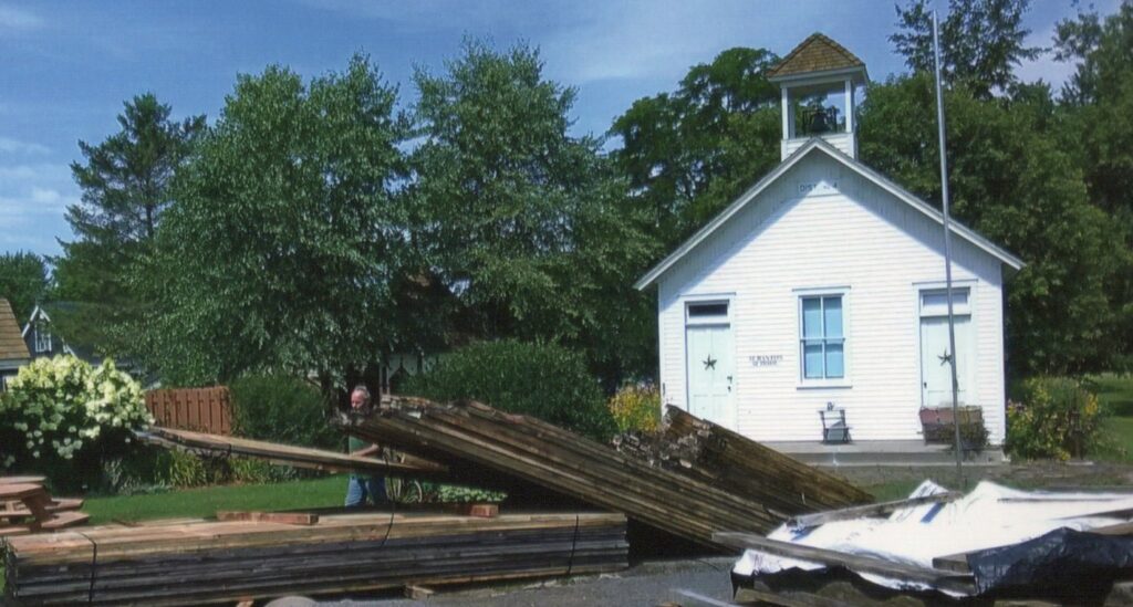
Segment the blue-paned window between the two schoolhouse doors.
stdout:
[[799,352],[802,381],[845,378],[845,323],[843,294],[799,298]]

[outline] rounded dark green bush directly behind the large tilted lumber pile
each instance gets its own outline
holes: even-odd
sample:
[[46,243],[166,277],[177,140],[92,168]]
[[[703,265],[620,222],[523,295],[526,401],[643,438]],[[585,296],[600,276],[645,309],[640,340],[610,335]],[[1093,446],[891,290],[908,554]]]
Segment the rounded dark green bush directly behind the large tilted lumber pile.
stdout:
[[406,392],[437,401],[480,401],[599,442],[614,431],[598,383],[582,358],[554,344],[503,340],[459,348],[428,373],[410,378]]

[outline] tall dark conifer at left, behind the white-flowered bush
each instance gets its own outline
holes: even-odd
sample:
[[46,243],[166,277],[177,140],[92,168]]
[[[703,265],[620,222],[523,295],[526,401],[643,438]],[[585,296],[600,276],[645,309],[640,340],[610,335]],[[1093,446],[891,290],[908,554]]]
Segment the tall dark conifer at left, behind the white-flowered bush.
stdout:
[[85,162],[71,163],[83,198],[67,208],[67,222],[78,239],[62,242],[63,255],[53,259],[53,296],[74,306],[52,320],[73,341],[104,352],[136,348],[131,325],[146,302],[129,273],[170,205],[174,170],[206,128],[204,116],[174,121],[171,114],[154,94],[138,95],[118,117],[121,130],[99,145],[79,142]]

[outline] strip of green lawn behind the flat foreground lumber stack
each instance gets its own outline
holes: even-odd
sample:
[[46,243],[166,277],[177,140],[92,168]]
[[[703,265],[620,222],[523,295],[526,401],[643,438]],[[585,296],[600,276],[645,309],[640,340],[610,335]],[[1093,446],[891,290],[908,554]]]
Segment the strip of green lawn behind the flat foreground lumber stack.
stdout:
[[341,506],[346,476],[272,485],[176,489],[154,495],[92,497],[83,505],[91,524],[181,516],[213,516],[218,510],[296,510]]

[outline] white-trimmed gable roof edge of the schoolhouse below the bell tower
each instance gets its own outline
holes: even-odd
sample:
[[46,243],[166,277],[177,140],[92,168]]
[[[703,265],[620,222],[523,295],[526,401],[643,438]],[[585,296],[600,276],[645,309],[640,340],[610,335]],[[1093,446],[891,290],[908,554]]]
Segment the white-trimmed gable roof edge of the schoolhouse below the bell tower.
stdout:
[[[724,211],[721,211],[718,215],[712,219],[704,228],[697,230],[688,240],[681,243],[673,253],[661,260],[657,265],[653,266],[649,272],[646,272],[644,276],[638,279],[633,287],[638,290],[644,290],[654,283],[662,274],[664,274],[670,267],[673,267],[676,262],[689,254],[692,249],[697,247],[700,242],[705,241],[713,232],[716,231],[721,225],[723,225],[733,215],[739,213],[743,207],[748,205],[751,200],[756,199],[765,189],[775,182],[780,177],[791,170],[792,166],[798,164],[803,157],[810,155],[811,153],[826,153],[832,159],[841,162],[845,166],[852,169],[858,174],[864,177],[866,179],[872,181],[878,187],[885,191],[892,194],[898,200],[908,204],[914,210],[923,213],[932,221],[944,224],[944,214],[936,210],[932,205],[926,203],[918,198],[914,194],[902,188],[901,186],[894,183],[893,181],[886,179],[880,173],[874,171],[869,166],[858,162],[857,160],[850,157],[849,155],[841,152],[838,148],[834,147],[825,139],[815,137],[802,145],[794,154],[791,154],[785,161],[781,162],[778,166],[767,173],[763,179],[759,180],[755,186],[748,189],[748,191],[740,195],[732,204],[727,205]],[[990,240],[978,234],[971,228],[968,228],[956,220],[949,217],[948,226],[953,234],[963,238],[964,240],[971,242],[977,248],[983,250],[988,255],[999,259],[1004,265],[1013,270],[1022,270],[1026,264],[1022,259],[1015,257],[1014,255],[1007,253],[1006,250],[999,248]]]

